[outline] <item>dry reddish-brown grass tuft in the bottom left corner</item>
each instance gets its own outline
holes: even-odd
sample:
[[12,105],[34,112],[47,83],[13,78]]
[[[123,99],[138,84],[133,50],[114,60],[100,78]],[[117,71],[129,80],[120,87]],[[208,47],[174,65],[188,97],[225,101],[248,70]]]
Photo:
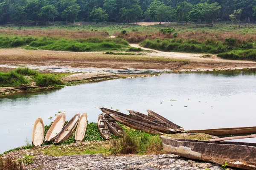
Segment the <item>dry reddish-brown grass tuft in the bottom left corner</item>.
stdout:
[[3,159],[0,156],[0,170],[23,170],[23,165],[17,163],[13,158],[7,157]]

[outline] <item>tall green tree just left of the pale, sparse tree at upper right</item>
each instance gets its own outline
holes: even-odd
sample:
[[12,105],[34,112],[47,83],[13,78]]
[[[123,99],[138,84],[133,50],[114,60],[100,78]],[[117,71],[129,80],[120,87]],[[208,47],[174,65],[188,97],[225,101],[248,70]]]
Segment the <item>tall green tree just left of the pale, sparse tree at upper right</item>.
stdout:
[[204,20],[211,23],[212,27],[215,23],[215,20],[218,19],[220,9],[221,6],[219,6],[218,3],[204,4],[202,15],[204,16]]

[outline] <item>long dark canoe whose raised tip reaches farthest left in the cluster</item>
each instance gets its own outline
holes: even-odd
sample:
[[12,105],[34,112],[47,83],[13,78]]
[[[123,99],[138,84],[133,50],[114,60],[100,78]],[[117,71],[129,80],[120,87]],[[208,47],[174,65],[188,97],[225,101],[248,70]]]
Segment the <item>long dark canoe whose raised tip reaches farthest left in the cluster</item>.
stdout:
[[129,120],[131,122],[135,122],[139,125],[143,125],[145,127],[148,127],[148,128],[151,128],[151,129],[154,129],[154,130],[157,130],[159,132],[163,132],[163,133],[175,133],[176,131],[173,130],[173,129],[168,129],[166,130],[166,128],[164,127],[161,127],[161,125],[157,124],[157,123],[154,123],[154,122],[151,122],[147,119],[141,119],[141,118],[137,118],[137,117],[134,117],[134,116],[130,116],[130,115],[127,115],[127,114],[124,114],[124,113],[121,113],[121,112],[118,112],[118,111],[113,111],[111,109],[108,109],[108,108],[100,108],[103,112],[107,113],[107,114],[113,114],[113,115],[116,115],[116,116],[120,116],[122,117],[123,119],[126,119],[126,120]]

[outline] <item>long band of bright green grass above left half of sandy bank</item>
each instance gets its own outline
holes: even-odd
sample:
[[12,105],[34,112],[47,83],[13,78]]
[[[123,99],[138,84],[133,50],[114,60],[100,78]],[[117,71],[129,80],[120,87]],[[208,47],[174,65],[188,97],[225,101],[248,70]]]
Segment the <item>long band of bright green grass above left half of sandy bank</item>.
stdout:
[[[29,46],[27,46],[29,45]],[[25,48],[53,51],[106,51],[128,47],[128,42],[120,38],[88,38],[70,40],[64,37],[32,37],[0,35],[0,48]]]

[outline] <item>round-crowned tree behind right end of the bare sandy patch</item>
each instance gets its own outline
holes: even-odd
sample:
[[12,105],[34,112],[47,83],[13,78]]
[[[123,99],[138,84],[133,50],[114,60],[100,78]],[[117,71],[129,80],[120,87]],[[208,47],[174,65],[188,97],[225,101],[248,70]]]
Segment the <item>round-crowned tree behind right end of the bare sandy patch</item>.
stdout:
[[155,12],[155,18],[162,23],[165,21],[167,27],[167,22],[174,17],[174,9],[171,6],[161,5],[158,6]]

